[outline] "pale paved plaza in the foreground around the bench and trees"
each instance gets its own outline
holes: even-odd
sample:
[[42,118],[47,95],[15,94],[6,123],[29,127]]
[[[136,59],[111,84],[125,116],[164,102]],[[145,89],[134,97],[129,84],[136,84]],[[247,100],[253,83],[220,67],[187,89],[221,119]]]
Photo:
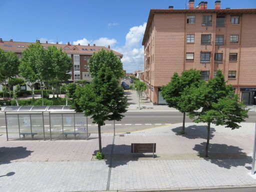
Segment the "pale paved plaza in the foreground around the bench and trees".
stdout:
[[[103,133],[105,160],[96,160],[97,134],[89,140],[9,140],[0,136],[0,191],[94,191],[253,186],[250,176],[254,124],[230,130],[169,124],[130,133]],[[132,154],[130,143],[156,142],[156,157]],[[114,143],[114,145],[112,145]],[[113,147],[113,148],[112,148]]]

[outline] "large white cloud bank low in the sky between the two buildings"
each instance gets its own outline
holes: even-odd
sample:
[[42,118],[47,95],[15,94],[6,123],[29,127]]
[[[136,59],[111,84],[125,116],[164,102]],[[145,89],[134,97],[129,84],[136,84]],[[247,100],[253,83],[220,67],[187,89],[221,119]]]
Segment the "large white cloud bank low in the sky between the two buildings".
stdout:
[[137,69],[144,70],[144,48],[141,45],[141,42],[145,27],[146,23],[131,27],[125,36],[125,44],[123,46],[116,46],[117,40],[107,37],[100,37],[95,40],[82,38],[80,40],[73,41],[73,44],[80,43],[81,45],[87,45],[88,43],[94,43],[98,46],[106,47],[109,44],[111,49],[123,54],[121,61],[123,63],[123,68],[127,72],[133,72]]

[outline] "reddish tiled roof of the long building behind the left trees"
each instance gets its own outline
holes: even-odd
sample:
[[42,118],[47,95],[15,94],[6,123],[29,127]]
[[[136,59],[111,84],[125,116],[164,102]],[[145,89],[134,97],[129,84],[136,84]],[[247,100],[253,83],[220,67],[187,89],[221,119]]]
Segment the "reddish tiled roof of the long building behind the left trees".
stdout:
[[[2,42],[0,42],[0,48],[3,49],[4,51],[13,51],[13,52],[22,52],[25,48],[28,47],[29,44],[31,43],[35,43],[35,42],[20,42],[20,41],[6,41],[6,40],[2,40]],[[76,45],[76,44],[56,44],[56,43],[41,43],[40,44],[44,47],[47,48],[49,45],[55,45],[58,48],[62,48],[63,51],[65,51],[66,53],[71,53],[71,54],[85,54],[85,55],[92,55],[93,52],[98,51],[100,49],[104,49],[104,50],[112,50],[109,49],[105,46],[87,46],[87,45]],[[68,47],[68,50],[65,50],[64,48]],[[73,48],[75,48],[76,50],[73,50]],[[78,50],[77,50],[78,49]],[[112,50],[114,54],[121,56],[122,54]]]

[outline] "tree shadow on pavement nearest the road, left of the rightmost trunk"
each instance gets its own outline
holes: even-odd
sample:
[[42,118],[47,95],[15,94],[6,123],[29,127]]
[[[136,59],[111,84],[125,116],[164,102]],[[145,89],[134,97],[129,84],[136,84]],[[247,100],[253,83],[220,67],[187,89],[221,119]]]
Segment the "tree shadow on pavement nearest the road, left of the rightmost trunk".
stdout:
[[[175,132],[176,135],[181,135],[186,138],[204,138],[207,139],[207,126],[205,125],[190,125],[185,127],[185,134],[180,134],[179,131],[182,130],[182,126],[172,128],[171,129],[173,132]],[[215,132],[215,128],[210,128],[210,138],[212,138],[214,135],[212,134]]]

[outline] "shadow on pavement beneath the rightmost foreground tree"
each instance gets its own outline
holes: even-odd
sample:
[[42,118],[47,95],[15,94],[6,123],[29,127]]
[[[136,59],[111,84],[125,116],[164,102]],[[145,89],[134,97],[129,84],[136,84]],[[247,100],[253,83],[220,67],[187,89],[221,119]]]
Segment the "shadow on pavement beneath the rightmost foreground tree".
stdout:
[[[204,156],[206,142],[195,144],[193,150],[197,151],[198,156]],[[246,163],[251,163],[251,156],[247,156],[242,152],[242,148],[238,146],[209,143],[208,157],[205,160],[210,161],[223,168],[230,168],[231,166],[244,166]]]

